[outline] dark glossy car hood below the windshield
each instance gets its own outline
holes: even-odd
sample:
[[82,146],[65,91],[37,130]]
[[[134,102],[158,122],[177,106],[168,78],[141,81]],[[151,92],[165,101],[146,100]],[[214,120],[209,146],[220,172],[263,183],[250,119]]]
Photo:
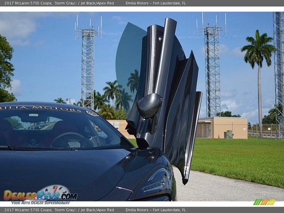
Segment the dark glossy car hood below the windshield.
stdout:
[[117,185],[135,156],[133,149],[1,151],[0,193],[38,192],[62,185],[78,194],[77,201],[94,201]]

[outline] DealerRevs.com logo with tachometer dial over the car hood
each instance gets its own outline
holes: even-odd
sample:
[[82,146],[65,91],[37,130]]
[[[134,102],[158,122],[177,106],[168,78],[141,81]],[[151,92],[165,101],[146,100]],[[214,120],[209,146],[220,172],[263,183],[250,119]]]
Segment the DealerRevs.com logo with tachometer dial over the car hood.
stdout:
[[4,191],[4,200],[12,201],[42,201],[42,200],[55,200],[55,201],[65,201],[77,199],[77,193],[70,193],[69,190],[62,185],[50,185],[38,192],[12,192],[10,190]]

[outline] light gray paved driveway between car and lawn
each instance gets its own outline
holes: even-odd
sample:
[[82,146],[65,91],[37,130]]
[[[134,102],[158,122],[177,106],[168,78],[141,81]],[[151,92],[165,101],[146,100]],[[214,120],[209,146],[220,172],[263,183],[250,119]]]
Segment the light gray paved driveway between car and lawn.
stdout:
[[180,172],[174,167],[178,201],[284,201],[284,189],[191,171],[184,186]]

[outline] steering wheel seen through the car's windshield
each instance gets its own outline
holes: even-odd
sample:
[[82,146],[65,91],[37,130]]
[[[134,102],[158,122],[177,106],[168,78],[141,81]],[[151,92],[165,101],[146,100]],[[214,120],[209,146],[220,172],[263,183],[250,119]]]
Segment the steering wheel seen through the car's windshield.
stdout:
[[[71,135],[71,136],[67,136],[67,135]],[[64,141],[60,141],[60,138],[66,138]],[[79,134],[79,133],[75,133],[75,132],[66,132],[66,133],[62,133],[60,135],[58,135],[56,138],[54,138],[54,140],[51,142],[50,146],[54,146],[55,143],[57,143],[55,145],[55,147],[57,146],[62,146],[62,147],[70,147],[68,142],[78,142],[80,143],[80,147],[93,147],[93,143],[85,138],[83,135]]]

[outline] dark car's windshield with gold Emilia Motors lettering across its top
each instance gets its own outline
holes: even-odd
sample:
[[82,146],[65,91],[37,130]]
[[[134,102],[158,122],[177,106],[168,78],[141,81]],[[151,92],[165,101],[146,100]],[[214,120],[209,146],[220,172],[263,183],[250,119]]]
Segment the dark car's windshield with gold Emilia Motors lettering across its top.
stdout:
[[72,106],[0,106],[0,146],[39,150],[133,147],[99,114]]

